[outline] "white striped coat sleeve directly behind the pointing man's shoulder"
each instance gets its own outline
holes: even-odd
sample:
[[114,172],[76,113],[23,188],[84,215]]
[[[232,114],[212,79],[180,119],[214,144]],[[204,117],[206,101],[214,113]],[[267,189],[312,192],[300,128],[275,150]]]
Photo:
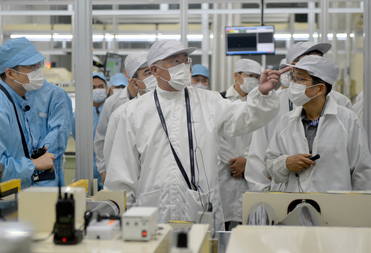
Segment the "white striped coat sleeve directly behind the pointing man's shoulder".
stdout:
[[103,157],[106,163],[106,170],[108,169],[109,157],[111,157],[112,145],[114,145],[118,122],[120,121],[122,115],[124,115],[126,106],[129,103],[133,102],[138,97],[140,97],[139,92],[137,97],[134,97],[132,100],[129,100],[128,102],[124,103],[124,105],[120,105],[114,112],[112,112],[111,117],[109,118],[103,147]]

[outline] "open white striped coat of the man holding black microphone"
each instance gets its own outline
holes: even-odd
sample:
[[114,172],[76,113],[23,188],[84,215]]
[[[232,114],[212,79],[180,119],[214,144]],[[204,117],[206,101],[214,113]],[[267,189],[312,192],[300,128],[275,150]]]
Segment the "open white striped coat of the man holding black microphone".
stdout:
[[[304,192],[371,190],[371,155],[366,131],[354,112],[337,105],[329,96],[326,99],[312,152],[321,158],[315,166],[298,173],[301,188]],[[295,173],[286,168],[286,158],[309,154],[302,110],[300,106],[282,116],[264,158],[272,180],[287,182],[281,188],[285,192],[299,191]]]

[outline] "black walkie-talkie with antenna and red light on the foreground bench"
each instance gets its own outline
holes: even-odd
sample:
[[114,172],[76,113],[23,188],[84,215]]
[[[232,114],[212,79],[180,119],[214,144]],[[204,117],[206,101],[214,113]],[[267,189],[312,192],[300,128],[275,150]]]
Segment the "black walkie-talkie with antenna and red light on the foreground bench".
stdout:
[[55,244],[78,244],[82,241],[82,231],[75,230],[75,200],[73,194],[68,198],[65,193],[64,198],[60,193],[55,207],[56,221],[55,221]]

